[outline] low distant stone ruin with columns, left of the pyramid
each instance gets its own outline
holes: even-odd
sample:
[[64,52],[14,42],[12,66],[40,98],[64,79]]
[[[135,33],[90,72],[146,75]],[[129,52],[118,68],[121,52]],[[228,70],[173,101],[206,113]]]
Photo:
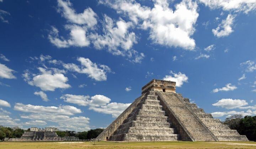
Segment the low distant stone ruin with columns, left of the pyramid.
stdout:
[[38,129],[31,127],[29,132],[24,132],[21,138],[10,138],[8,141],[78,141],[77,137],[59,137],[55,132],[58,128]]

